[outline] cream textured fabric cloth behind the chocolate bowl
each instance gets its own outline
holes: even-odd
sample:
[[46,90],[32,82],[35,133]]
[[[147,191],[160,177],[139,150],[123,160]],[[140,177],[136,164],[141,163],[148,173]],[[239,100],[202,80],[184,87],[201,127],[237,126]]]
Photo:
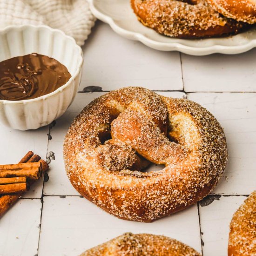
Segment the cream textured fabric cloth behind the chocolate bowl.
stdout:
[[94,22],[87,0],[0,0],[0,28],[47,25],[74,37],[81,46]]

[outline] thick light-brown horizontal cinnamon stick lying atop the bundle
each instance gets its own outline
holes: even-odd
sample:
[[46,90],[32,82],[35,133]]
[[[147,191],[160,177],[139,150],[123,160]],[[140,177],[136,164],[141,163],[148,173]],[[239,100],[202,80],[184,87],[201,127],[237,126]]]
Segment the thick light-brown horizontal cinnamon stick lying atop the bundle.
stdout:
[[40,162],[0,165],[0,178],[27,177],[32,180],[38,180],[41,176],[42,165]]

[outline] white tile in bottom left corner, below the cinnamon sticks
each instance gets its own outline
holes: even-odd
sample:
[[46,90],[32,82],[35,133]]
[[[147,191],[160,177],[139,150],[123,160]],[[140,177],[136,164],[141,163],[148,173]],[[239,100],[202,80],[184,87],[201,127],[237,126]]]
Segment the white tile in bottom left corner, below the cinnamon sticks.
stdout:
[[20,199],[0,219],[0,256],[37,255],[40,199]]

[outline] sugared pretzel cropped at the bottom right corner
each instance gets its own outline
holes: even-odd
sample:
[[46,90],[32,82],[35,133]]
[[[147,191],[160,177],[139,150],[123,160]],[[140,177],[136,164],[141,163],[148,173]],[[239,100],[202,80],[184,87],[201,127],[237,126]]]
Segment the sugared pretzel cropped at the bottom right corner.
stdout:
[[249,195],[230,222],[229,256],[256,255],[256,190]]

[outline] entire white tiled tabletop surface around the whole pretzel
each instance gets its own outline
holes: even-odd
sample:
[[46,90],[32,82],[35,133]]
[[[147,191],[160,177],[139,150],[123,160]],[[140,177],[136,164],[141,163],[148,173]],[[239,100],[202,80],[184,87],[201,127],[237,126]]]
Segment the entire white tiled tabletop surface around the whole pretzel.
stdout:
[[[83,52],[79,93],[60,119],[26,132],[0,124],[1,164],[18,162],[28,150],[51,159],[49,180],[0,219],[0,256],[77,256],[124,232],[161,234],[204,256],[226,256],[231,217],[256,188],[256,49],[204,57],[160,52],[97,21]],[[88,86],[103,92],[83,92]],[[63,165],[62,142],[73,118],[105,91],[126,86],[202,104],[222,124],[229,147],[229,163],[213,195],[153,223],[120,220],[81,198]]]

